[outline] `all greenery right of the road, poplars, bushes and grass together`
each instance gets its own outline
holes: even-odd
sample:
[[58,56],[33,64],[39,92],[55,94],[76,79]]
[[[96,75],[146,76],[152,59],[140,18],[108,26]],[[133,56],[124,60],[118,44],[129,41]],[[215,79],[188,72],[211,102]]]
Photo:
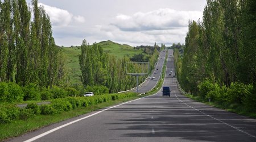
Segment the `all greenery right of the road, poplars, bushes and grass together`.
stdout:
[[201,102],[256,117],[255,1],[207,1],[190,21],[183,57],[174,49],[181,87]]

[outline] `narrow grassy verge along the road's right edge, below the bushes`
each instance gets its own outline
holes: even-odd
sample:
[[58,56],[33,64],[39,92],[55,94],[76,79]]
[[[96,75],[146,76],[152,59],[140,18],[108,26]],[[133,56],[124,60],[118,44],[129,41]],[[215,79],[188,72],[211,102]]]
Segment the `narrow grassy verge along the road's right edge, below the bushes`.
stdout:
[[248,112],[246,111],[246,108],[238,105],[238,104],[222,104],[222,103],[218,103],[218,102],[206,102],[204,101],[202,98],[200,98],[199,96],[194,96],[192,94],[185,94],[186,97],[189,97],[197,102],[201,102],[204,103],[206,105],[210,105],[216,108],[220,108],[222,110],[226,110],[229,112],[233,112],[239,115],[243,115],[243,116],[248,116],[249,118],[254,118],[256,119],[256,112]]

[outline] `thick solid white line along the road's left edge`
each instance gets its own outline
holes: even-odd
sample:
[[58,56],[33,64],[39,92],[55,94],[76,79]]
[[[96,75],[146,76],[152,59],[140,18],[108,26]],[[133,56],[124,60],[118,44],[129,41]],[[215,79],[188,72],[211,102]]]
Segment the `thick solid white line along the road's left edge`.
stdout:
[[[150,95],[148,95],[148,96],[146,96],[146,97],[149,97],[149,96],[150,96]],[[142,98],[145,98],[145,97],[142,97]],[[137,100],[142,99],[142,98],[134,99],[133,101],[137,101]],[[109,109],[111,109],[111,108],[124,105],[124,104],[126,104],[126,103],[130,103],[130,102],[133,102],[133,101],[121,103],[121,104],[119,104],[119,105],[116,105],[116,106],[113,106],[113,107],[109,107],[109,108],[106,108],[105,110],[101,110],[101,111],[98,111],[98,112],[96,112],[96,113],[94,113],[94,114],[85,116],[84,118],[80,118],[80,119],[74,120],[74,121],[72,121],[72,122],[69,122],[69,123],[64,124],[64,125],[62,125],[62,126],[59,126],[59,127],[56,127],[56,128],[54,128],[54,129],[52,129],[52,130],[49,130],[49,131],[47,131],[47,132],[44,132],[44,133],[42,133],[42,134],[40,134],[40,135],[38,135],[38,136],[32,137],[31,139],[28,139],[28,140],[26,140],[26,141],[24,141],[24,142],[30,142],[30,141],[37,140],[37,139],[39,139],[40,137],[46,136],[46,135],[48,135],[49,133],[52,133],[52,132],[54,132],[54,131],[57,131],[57,130],[63,128],[63,127],[69,126],[69,125],[71,125],[71,124],[73,124],[73,123],[79,122],[79,121],[81,121],[81,120],[84,120],[84,119],[89,118],[89,117],[91,117],[91,116],[94,116],[94,115],[96,115],[96,114],[100,114],[100,113],[103,112],[103,111],[106,111],[106,110],[109,110]]]

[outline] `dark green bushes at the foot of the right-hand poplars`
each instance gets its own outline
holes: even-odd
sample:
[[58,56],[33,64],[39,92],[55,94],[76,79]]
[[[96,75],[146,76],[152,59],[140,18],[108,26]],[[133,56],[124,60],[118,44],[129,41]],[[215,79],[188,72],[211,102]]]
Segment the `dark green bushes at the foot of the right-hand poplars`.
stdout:
[[248,111],[256,112],[256,94],[253,92],[253,85],[245,85],[233,82],[229,87],[220,86],[218,83],[204,81],[200,83],[198,95],[208,101],[222,104],[238,104],[245,106]]

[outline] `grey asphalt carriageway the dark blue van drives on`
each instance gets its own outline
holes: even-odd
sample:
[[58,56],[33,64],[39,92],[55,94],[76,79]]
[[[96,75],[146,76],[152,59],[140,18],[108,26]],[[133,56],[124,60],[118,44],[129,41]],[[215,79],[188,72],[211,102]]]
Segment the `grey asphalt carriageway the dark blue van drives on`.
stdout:
[[170,70],[174,70],[173,56],[168,57],[164,79],[164,86],[171,87],[171,97],[162,97],[159,92],[11,141],[256,141],[255,119],[184,97],[177,89],[176,78],[168,75]]

